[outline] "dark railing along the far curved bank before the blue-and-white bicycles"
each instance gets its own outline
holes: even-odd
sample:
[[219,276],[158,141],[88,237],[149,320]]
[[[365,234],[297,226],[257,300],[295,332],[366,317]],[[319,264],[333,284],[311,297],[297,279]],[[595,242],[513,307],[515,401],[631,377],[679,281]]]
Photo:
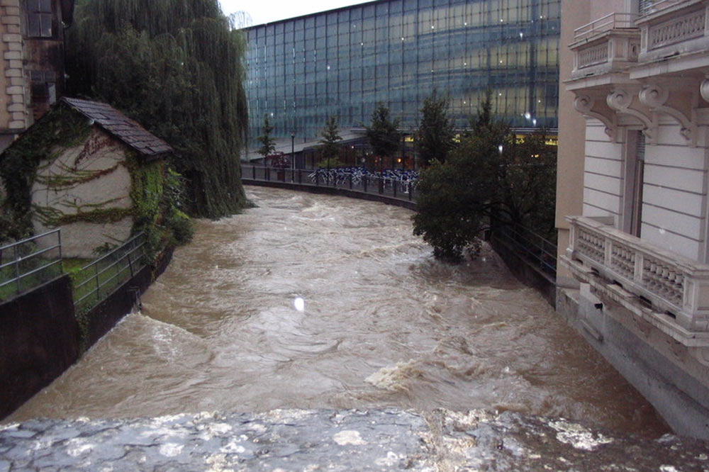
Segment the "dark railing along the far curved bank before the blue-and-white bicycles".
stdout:
[[[387,196],[397,200],[415,201],[416,180],[397,179],[386,174],[337,174],[326,169],[277,169],[274,167],[242,164],[242,179],[255,181],[278,181],[284,183],[323,186],[333,189],[346,189],[356,192]],[[394,172],[394,171],[392,171]]]

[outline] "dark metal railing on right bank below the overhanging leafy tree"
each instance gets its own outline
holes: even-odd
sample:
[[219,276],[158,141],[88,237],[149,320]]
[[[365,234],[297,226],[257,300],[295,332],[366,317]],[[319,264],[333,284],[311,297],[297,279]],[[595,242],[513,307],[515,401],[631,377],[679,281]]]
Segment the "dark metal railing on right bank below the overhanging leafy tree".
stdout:
[[493,237],[506,243],[552,279],[557,279],[557,245],[529,228],[516,223],[500,223],[493,228]]

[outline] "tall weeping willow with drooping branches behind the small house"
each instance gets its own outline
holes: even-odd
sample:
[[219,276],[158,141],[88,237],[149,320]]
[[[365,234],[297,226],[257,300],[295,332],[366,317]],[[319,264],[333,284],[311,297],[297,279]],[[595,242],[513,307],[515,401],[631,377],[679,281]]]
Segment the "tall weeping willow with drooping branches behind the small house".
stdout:
[[246,202],[244,55],[218,0],[83,0],[67,36],[67,89],[169,142],[191,213],[217,218]]

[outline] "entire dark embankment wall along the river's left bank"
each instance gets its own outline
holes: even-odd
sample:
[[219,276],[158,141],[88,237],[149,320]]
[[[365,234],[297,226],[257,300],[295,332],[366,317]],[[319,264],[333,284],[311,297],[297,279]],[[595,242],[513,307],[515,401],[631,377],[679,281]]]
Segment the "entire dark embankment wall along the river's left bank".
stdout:
[[[145,266],[86,313],[74,313],[69,276],[61,276],[0,304],[0,419],[48,386],[101,339],[167,268],[172,249]],[[1,454],[0,454],[1,455]],[[0,466],[0,471],[3,468]]]

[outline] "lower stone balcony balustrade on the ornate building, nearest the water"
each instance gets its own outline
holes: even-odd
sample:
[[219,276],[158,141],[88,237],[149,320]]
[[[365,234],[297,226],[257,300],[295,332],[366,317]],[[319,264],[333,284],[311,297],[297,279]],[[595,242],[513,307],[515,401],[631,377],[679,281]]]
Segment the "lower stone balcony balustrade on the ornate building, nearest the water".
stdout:
[[567,217],[571,238],[567,258],[585,273],[601,276],[637,297],[637,305],[660,313],[667,325],[709,332],[709,265],[655,247],[637,237],[581,216]]

